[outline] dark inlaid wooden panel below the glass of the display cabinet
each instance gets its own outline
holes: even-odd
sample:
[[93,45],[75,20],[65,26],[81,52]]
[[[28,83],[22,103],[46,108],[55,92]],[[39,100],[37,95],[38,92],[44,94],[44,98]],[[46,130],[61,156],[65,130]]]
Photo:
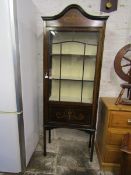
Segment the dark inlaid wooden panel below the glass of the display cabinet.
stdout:
[[69,124],[90,124],[91,113],[91,109],[82,110],[69,107],[50,107],[49,120]]

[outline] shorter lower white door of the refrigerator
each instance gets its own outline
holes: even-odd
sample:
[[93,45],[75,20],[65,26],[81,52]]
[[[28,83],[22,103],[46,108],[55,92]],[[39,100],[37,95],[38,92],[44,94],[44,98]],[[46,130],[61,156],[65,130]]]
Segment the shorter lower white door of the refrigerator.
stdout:
[[0,114],[0,172],[21,171],[17,115]]

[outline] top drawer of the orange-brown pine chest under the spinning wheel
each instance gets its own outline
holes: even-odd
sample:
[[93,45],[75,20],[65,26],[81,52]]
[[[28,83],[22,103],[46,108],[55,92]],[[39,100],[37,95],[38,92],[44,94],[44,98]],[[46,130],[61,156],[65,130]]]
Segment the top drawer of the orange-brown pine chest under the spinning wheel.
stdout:
[[110,127],[131,128],[131,112],[115,112],[110,113]]

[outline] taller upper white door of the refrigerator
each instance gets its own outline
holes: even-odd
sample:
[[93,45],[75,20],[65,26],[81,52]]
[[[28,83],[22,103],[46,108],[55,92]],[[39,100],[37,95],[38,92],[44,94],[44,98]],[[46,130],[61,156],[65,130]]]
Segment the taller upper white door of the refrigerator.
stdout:
[[16,110],[15,78],[8,0],[0,2],[0,111]]

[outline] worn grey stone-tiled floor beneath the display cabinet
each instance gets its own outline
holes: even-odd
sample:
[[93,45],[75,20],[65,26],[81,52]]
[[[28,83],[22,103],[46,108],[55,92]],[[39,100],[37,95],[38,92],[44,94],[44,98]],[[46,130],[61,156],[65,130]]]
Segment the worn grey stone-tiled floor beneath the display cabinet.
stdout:
[[100,171],[95,152],[93,162],[89,161],[87,142],[52,139],[46,157],[42,145],[41,137],[24,175],[112,175]]

